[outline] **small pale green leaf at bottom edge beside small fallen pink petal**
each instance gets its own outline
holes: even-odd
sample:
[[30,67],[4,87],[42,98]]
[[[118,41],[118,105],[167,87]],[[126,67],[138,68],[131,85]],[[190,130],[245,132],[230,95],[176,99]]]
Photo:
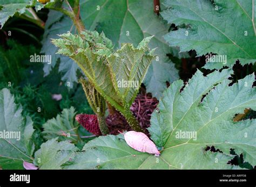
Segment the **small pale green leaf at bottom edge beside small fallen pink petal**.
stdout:
[[57,142],[56,139],[46,141],[35,153],[34,164],[39,169],[60,169],[60,166],[69,161],[78,150],[68,141]]

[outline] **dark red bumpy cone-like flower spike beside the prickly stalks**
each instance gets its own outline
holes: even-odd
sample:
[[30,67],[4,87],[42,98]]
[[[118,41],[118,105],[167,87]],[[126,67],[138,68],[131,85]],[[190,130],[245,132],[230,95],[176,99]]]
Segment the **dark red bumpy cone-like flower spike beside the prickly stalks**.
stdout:
[[77,114],[76,120],[87,131],[97,136],[102,135],[99,129],[99,123],[96,115],[93,114]]

